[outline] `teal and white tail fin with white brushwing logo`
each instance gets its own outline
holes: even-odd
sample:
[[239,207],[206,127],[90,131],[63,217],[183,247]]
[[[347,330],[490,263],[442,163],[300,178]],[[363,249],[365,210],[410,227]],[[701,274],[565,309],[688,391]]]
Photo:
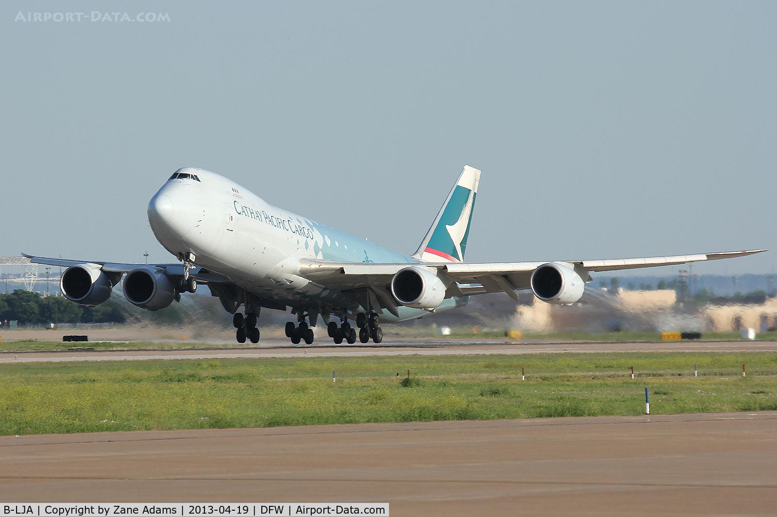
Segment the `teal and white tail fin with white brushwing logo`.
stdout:
[[423,262],[462,262],[480,171],[465,165],[413,257]]

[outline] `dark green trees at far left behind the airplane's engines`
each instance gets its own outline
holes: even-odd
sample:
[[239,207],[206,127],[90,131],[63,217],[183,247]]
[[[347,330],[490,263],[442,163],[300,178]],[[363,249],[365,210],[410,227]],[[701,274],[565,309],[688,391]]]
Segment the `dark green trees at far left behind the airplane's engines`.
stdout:
[[65,297],[42,297],[39,293],[17,289],[0,294],[0,323],[19,321],[19,325],[48,323],[124,323],[127,317],[109,300],[97,307],[83,307]]

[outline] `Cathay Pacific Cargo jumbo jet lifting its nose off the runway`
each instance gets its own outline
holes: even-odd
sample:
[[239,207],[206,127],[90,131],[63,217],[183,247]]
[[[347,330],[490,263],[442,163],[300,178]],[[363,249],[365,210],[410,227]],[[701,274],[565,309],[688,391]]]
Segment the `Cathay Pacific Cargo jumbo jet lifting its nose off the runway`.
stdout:
[[[548,304],[572,305],[591,272],[729,259],[767,250],[647,259],[464,262],[480,171],[469,165],[412,255],[383,248],[271,206],[231,179],[179,168],[148,203],[148,222],[179,263],[119,264],[25,255],[66,266],[61,292],[89,307],[105,303],[124,278],[124,297],[158,311],[205,284],[221,300],[240,343],[260,340],[262,308],[287,311],[286,336],[312,344],[319,317],[336,344],[382,342],[380,322],[408,321],[466,304],[481,293],[531,290]],[[243,313],[239,308],[243,307]],[[354,321],[357,331],[350,321]]]

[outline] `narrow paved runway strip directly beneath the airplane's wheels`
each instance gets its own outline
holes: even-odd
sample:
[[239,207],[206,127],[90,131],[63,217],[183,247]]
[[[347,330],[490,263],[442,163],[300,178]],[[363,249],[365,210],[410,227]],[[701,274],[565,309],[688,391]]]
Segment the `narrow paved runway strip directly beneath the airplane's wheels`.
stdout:
[[358,357],[444,356],[461,354],[537,354],[559,352],[777,352],[772,341],[675,341],[675,342],[565,342],[521,343],[492,341],[443,341],[395,339],[380,345],[291,345],[286,339],[268,339],[246,348],[201,348],[176,350],[90,350],[59,352],[2,352],[0,363],[38,361],[131,361],[144,359],[231,359],[241,357]]

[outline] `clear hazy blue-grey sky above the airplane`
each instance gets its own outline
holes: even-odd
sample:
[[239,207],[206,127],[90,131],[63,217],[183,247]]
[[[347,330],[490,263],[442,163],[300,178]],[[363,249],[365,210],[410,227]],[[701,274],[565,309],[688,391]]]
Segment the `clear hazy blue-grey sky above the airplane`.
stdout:
[[[149,10],[169,21],[116,21]],[[472,262],[777,248],[775,15],[775,2],[2,2],[0,256],[172,262],[145,211],[182,166],[414,252],[472,165]],[[773,272],[775,253],[694,272]]]

